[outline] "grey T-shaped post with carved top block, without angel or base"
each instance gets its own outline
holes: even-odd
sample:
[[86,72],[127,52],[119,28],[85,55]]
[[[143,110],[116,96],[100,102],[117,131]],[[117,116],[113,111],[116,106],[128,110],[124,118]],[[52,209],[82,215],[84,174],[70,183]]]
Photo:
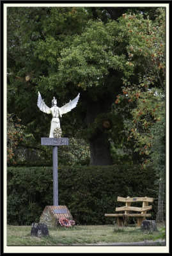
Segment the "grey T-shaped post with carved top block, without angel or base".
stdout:
[[52,146],[53,204],[58,206],[58,146],[68,145],[68,138],[41,138],[41,145]]

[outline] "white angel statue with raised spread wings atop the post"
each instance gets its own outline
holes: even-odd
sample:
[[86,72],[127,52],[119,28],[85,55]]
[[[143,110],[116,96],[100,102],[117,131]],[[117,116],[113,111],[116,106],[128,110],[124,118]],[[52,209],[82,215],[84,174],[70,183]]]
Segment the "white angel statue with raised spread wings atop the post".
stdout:
[[40,92],[38,92],[38,103],[37,103],[38,108],[44,113],[52,114],[51,130],[50,130],[49,138],[54,138],[54,134],[53,134],[54,130],[60,129],[59,116],[62,117],[63,114],[71,111],[73,108],[75,108],[75,106],[77,106],[77,102],[79,100],[79,94],[77,95],[77,97],[75,97],[74,100],[70,100],[70,102],[68,102],[61,108],[58,108],[57,100],[54,97],[52,100],[52,107],[49,108],[43,101],[40,95]]

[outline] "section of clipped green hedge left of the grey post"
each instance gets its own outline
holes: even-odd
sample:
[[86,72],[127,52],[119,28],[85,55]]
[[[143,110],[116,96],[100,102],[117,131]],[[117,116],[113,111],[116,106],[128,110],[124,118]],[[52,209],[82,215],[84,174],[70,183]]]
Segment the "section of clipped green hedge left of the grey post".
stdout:
[[[45,204],[52,205],[51,168],[10,168],[8,170],[8,214],[13,225],[39,221]],[[47,193],[49,191],[50,193]]]

